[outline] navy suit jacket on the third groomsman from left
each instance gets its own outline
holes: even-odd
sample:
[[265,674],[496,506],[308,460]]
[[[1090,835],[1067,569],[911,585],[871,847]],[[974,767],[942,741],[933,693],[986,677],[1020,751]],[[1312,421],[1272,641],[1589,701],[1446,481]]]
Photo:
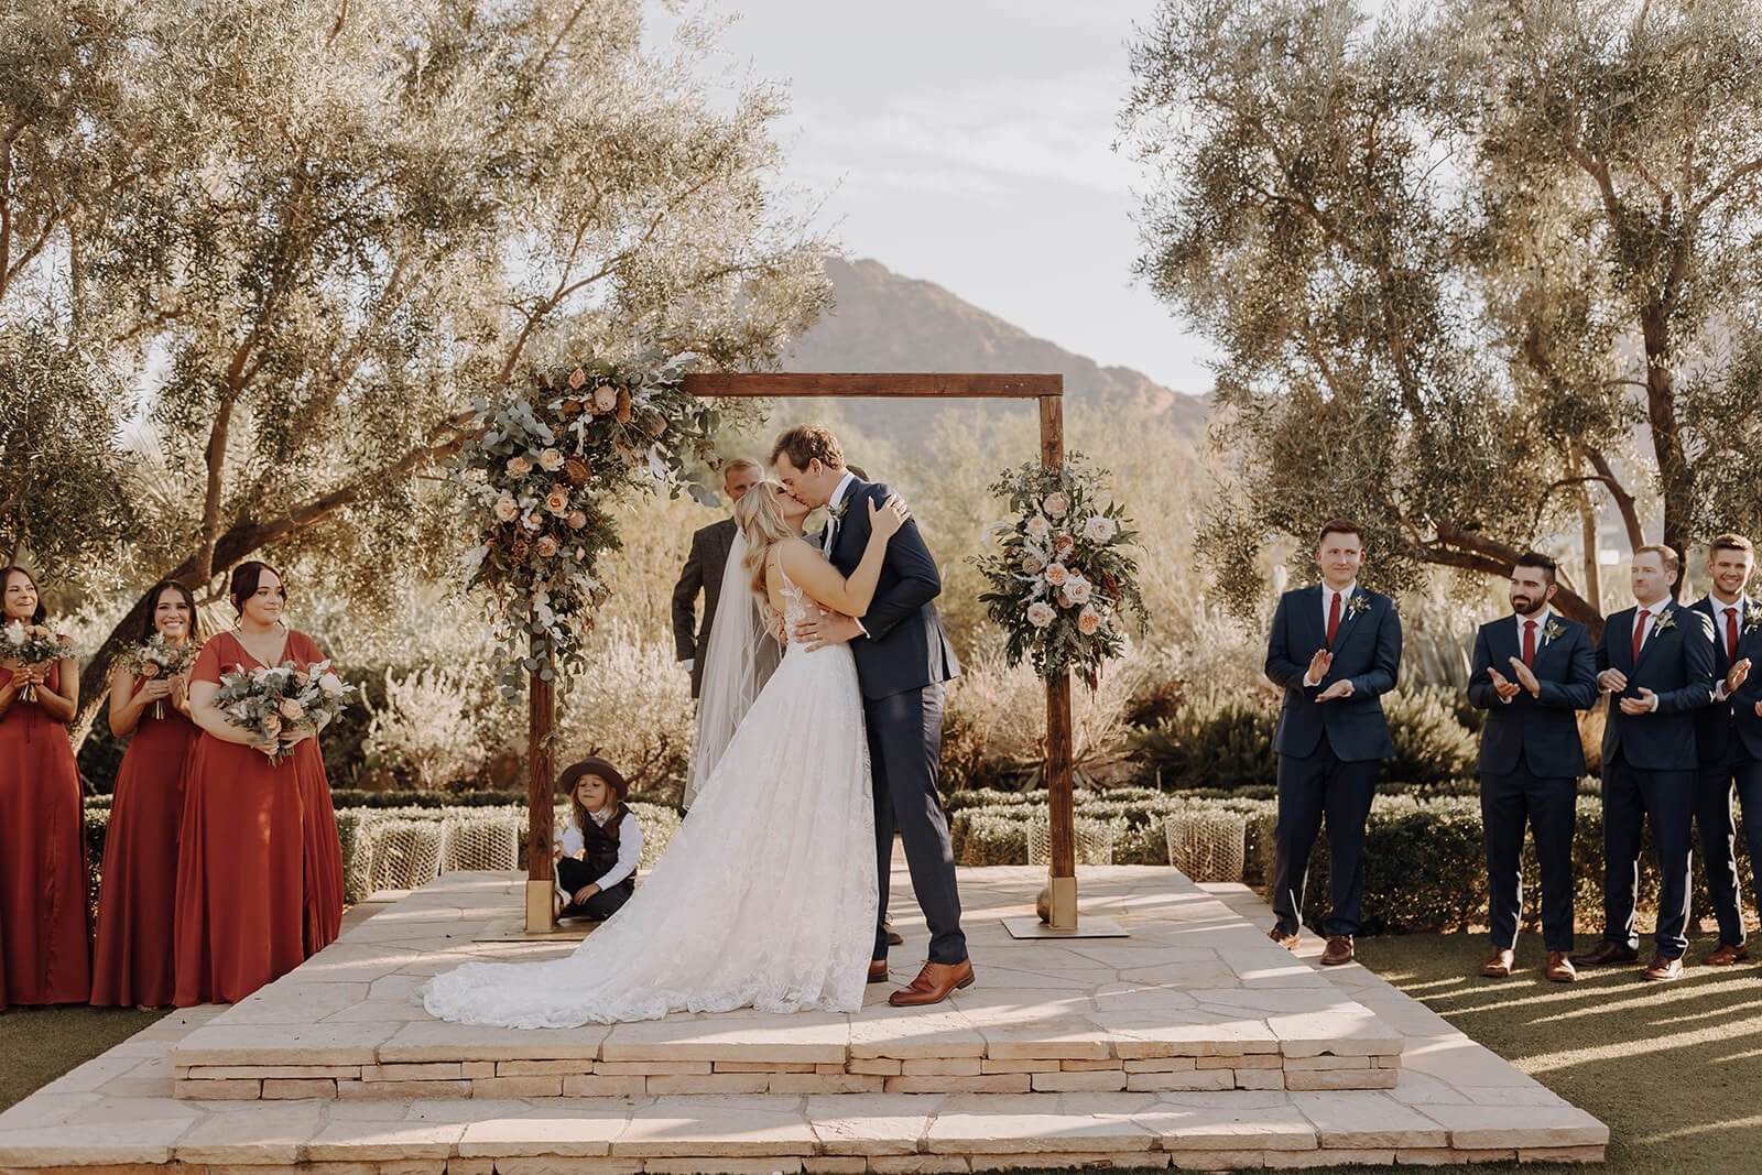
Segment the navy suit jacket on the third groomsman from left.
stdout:
[[[1603,763],[1619,750],[1632,766],[1647,772],[1693,772],[1695,713],[1713,701],[1713,617],[1676,601],[1660,615],[1674,624],[1653,632],[1633,664],[1633,617],[1637,608],[1623,608],[1603,620],[1603,639],[1596,645],[1596,671],[1621,669],[1628,689],[1609,699],[1609,724],[1603,726]],[[1640,687],[1658,696],[1653,713],[1626,715],[1618,705],[1639,698]]]

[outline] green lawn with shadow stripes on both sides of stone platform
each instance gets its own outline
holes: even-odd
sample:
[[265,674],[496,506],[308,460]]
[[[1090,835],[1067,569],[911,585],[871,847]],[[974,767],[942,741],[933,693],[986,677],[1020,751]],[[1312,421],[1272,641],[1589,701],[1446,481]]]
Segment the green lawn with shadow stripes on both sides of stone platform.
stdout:
[[[1581,937],[1581,946],[1589,946]],[[1711,950],[1690,944],[1690,960]],[[1607,1175],[1762,1170],[1762,965],[1690,967],[1651,985],[1637,967],[1542,979],[1542,942],[1524,935],[1510,979],[1475,972],[1484,935],[1425,934],[1359,941],[1359,958],[1471,1038],[1609,1124]],[[0,1015],[0,1108],[137,1032],[159,1013],[92,1008]],[[1413,1168],[1403,1168],[1413,1170]],[[1496,1166],[1431,1168],[1496,1171]],[[1584,1173],[1524,1166],[1524,1175]]]

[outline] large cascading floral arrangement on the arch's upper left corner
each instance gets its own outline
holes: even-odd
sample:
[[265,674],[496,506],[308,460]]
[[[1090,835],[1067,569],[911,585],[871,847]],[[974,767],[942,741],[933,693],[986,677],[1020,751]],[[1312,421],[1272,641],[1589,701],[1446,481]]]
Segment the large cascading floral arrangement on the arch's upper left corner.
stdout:
[[601,558],[622,546],[611,511],[627,490],[664,484],[715,502],[685,477],[689,458],[712,456],[719,423],[680,388],[692,359],[592,359],[478,400],[453,477],[476,520],[463,587],[493,599],[506,699],[530,673],[566,682],[583,668],[581,636],[611,594]]

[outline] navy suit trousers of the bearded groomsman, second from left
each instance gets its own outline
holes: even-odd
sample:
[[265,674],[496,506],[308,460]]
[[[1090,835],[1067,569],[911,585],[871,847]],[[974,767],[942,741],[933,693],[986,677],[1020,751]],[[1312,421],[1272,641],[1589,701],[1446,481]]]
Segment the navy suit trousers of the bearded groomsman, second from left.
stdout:
[[1480,823],[1487,842],[1487,877],[1492,883],[1487,918],[1492,946],[1517,946],[1528,824],[1535,831],[1536,865],[1542,870],[1542,939],[1551,951],[1572,950],[1572,831],[1577,800],[1577,779],[1533,775],[1522,756],[1517,770],[1508,775],[1480,775]]

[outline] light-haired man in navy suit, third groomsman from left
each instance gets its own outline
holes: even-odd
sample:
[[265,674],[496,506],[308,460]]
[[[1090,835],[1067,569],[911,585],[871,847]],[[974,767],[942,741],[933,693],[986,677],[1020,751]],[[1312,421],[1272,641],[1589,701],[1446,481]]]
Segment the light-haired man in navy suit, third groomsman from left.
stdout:
[[1662,544],[1633,551],[1633,608],[1603,620],[1598,685],[1609,698],[1603,728],[1603,941],[1581,967],[1639,960],[1633,902],[1640,833],[1651,828],[1663,886],[1656,953],[1647,979],[1683,978],[1688,950],[1688,868],[1700,757],[1695,712],[1714,701],[1713,620],[1670,599],[1683,564]]

